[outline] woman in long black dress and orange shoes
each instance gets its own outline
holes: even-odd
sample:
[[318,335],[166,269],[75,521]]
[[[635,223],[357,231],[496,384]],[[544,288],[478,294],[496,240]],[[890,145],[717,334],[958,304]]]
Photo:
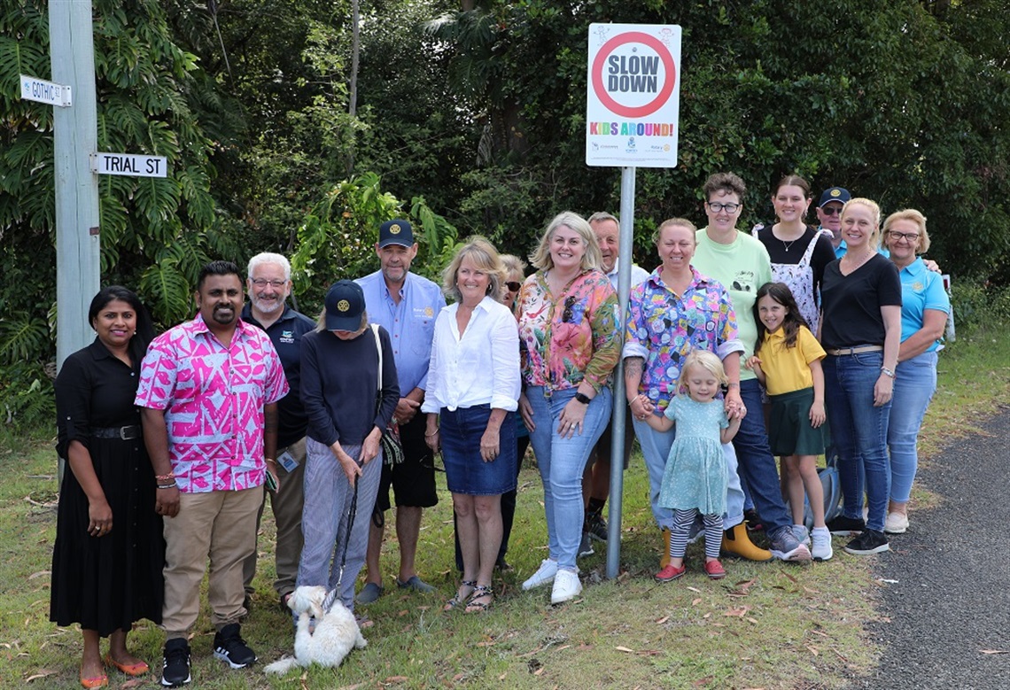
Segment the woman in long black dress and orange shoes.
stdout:
[[98,337],[67,358],[56,383],[57,451],[70,472],[60,491],[49,619],[81,624],[81,685],[98,688],[108,684],[100,637],[109,637],[104,665],[131,676],[148,670],[126,651],[126,633],[139,618],[161,622],[165,540],[133,405],[150,319],[119,286],[95,296],[88,318]]

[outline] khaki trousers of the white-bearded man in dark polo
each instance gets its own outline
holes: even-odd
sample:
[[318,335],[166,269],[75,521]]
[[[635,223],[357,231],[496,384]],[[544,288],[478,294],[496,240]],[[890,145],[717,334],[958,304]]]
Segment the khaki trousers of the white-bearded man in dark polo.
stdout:
[[[277,493],[264,492],[270,494],[270,507],[274,513],[274,522],[277,524],[277,544],[274,550],[274,564],[277,579],[274,580],[274,589],[280,596],[290,594],[295,591],[295,581],[298,579],[298,561],[302,557],[302,506],[305,503],[305,439],[297,440],[287,448],[277,449],[277,456],[280,458],[287,451],[291,457],[298,461],[298,467],[294,472],[289,473],[280,464],[277,466],[277,475],[281,483],[281,490]],[[256,531],[260,533],[260,521],[263,519],[263,509],[267,505],[267,496],[264,496],[263,503],[260,504],[260,512],[257,513]],[[245,591],[252,593],[252,578],[256,577],[257,553],[259,549],[254,549],[242,564],[242,577],[244,578]]]

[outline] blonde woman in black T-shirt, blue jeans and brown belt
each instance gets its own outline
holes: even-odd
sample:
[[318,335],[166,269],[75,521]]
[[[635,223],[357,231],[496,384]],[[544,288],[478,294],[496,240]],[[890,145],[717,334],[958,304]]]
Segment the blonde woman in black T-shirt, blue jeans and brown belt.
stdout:
[[[842,514],[828,521],[834,534],[857,534],[845,547],[858,556],[888,551],[884,521],[888,423],[901,341],[901,281],[895,265],[878,254],[880,207],[852,199],[841,211],[845,256],[828,265],[821,283],[821,344],[831,436],[838,451],[844,494]],[[869,513],[863,519],[858,488],[862,458]]]

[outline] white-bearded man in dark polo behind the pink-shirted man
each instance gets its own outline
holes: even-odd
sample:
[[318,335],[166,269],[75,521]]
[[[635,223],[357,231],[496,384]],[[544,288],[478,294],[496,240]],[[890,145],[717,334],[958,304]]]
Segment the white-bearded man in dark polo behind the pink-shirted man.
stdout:
[[[281,598],[281,607],[287,612],[287,600],[295,591],[298,561],[302,555],[302,505],[305,476],[305,429],[308,420],[299,395],[301,372],[301,337],[315,328],[315,322],[288,306],[291,294],[291,264],[279,254],[264,252],[249,260],[245,291],[249,303],[242,308],[242,320],[262,328],[270,336],[281,358],[284,376],[291,392],[277,403],[280,428],[277,438],[276,466],[278,490],[271,493],[270,506],[277,523],[277,548],[274,553],[277,579],[274,589]],[[267,460],[268,463],[271,459]],[[266,494],[264,494],[266,504]],[[257,515],[257,533],[263,508]],[[252,593],[256,576],[257,552],[254,551],[242,564],[245,578],[245,596]],[[246,608],[248,606],[246,605]]]

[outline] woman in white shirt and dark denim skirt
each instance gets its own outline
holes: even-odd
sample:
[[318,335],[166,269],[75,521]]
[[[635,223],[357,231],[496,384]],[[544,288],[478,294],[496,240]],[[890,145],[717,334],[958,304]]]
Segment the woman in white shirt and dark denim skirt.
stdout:
[[441,448],[463,552],[463,583],[445,610],[486,610],[502,539],[501,495],[515,488],[519,333],[499,301],[505,268],[494,245],[474,237],[442,272],[456,300],[435,320],[421,411],[425,438]]

